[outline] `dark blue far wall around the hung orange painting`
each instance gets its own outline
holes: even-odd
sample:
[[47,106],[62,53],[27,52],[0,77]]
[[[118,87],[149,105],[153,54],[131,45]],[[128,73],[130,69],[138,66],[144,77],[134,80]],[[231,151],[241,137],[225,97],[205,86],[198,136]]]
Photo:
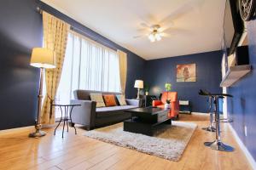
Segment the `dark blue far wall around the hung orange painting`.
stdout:
[[[190,54],[165,59],[146,61],[145,83],[150,87],[149,94],[159,95],[165,90],[165,83],[172,83],[172,91],[177,92],[178,99],[189,99],[192,111],[207,112],[207,98],[198,95],[200,88],[212,93],[221,93],[221,59],[222,52],[215,51]],[[196,64],[196,82],[176,82],[176,66]]]

